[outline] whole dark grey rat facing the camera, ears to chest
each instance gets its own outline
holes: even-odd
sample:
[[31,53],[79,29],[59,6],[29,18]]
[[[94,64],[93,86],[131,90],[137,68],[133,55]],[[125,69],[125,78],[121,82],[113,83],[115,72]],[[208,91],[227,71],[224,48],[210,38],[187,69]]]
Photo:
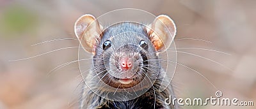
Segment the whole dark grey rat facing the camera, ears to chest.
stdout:
[[[77,19],[74,31],[84,50],[93,55],[92,69],[84,77],[90,89],[83,84],[79,108],[175,108],[164,104],[165,98],[174,96],[172,85],[158,90],[164,73],[158,54],[170,46],[176,34],[170,17],[159,15],[148,25],[119,22],[104,29],[93,15],[86,14]],[[143,79],[146,81],[142,83]],[[127,93],[145,92],[128,100],[102,97],[122,96],[122,89]]]

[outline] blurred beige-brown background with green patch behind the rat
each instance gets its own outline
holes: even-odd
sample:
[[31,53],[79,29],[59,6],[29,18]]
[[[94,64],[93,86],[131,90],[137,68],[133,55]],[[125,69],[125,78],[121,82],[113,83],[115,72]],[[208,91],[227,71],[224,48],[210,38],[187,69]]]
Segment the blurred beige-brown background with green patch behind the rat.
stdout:
[[[254,101],[255,105],[255,6],[253,0],[0,0],[0,109],[77,108],[77,85],[81,81],[77,62],[50,75],[49,72],[77,59],[77,48],[65,47],[79,45],[78,40],[72,40],[76,39],[73,27],[78,17],[85,13],[99,17],[120,8],[138,8],[172,17],[177,25],[178,62],[195,69],[217,88],[195,71],[178,65],[172,83],[177,96],[208,98],[220,90],[224,98]],[[67,40],[31,46],[60,38]],[[59,48],[65,49],[11,62]],[[184,108],[253,109],[255,106]]]

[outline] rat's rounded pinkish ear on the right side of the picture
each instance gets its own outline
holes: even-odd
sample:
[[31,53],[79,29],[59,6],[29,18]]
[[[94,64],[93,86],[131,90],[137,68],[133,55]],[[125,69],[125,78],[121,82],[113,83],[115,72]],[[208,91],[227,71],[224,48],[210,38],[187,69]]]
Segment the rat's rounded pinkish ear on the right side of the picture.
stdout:
[[147,33],[157,51],[164,51],[172,44],[176,34],[176,26],[167,15],[159,15],[148,25]]

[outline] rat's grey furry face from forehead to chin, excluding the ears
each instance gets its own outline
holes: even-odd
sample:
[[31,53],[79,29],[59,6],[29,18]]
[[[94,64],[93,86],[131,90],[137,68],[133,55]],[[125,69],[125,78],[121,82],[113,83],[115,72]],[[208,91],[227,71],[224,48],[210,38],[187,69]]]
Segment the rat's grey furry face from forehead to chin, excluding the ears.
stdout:
[[111,25],[101,35],[100,43],[95,45],[93,66],[104,65],[95,70],[103,82],[115,88],[129,88],[140,84],[144,78],[151,81],[157,78],[157,52],[145,25],[122,22]]

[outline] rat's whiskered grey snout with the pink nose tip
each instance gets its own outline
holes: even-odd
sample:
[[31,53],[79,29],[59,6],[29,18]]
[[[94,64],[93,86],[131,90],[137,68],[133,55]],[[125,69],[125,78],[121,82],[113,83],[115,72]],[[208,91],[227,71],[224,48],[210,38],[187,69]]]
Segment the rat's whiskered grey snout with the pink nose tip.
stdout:
[[[108,59],[105,60],[108,61]],[[107,70],[115,78],[132,79],[136,78],[142,63],[143,58],[140,57],[138,47],[136,45],[124,45],[116,48],[113,56],[110,56]]]

